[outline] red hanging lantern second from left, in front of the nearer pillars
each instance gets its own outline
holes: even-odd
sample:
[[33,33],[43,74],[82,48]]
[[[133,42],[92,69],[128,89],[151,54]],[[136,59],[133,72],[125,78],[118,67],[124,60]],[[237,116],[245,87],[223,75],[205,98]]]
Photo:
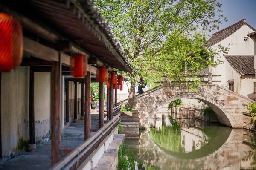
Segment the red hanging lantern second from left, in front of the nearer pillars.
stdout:
[[87,57],[74,54],[70,58],[70,75],[74,78],[84,78],[87,75]]

